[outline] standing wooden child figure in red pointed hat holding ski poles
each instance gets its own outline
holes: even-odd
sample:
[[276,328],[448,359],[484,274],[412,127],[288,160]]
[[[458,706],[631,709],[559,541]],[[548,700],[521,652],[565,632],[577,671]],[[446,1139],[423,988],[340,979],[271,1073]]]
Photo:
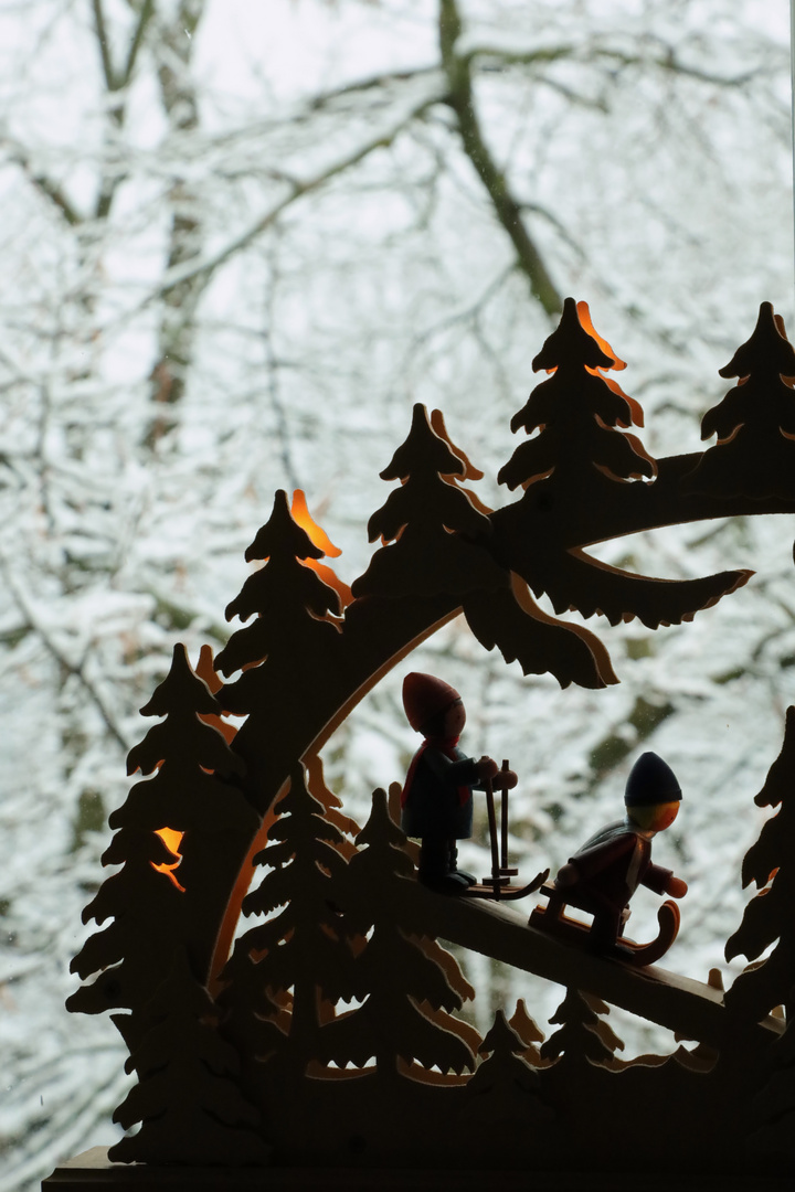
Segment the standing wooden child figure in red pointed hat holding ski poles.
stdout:
[[400,826],[418,837],[420,881],[433,889],[461,894],[476,879],[458,868],[456,840],[472,836],[472,788],[486,781],[498,789],[516,786],[513,770],[493,758],[477,762],[458,747],[466,712],[449,683],[412,671],[403,681],[403,707],[424,741],[415,753],[400,797]]

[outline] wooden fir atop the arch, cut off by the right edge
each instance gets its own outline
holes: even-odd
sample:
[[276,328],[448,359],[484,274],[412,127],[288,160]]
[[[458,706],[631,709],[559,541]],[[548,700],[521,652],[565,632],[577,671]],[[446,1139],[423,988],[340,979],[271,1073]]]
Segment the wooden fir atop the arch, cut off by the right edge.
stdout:
[[704,452],[690,474],[690,491],[727,497],[791,496],[795,350],[769,302],[759,306],[751,339],[720,375],[738,377],[739,381],[703,416],[701,437],[718,435],[718,443]]

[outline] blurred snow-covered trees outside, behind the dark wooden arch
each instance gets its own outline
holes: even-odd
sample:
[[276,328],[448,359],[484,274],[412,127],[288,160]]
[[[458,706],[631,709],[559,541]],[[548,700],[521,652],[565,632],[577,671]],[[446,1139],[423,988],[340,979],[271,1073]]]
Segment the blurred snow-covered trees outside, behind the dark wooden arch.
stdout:
[[[117,1137],[120,1041],[63,1010],[80,913],[137,709],[174,641],[221,648],[274,489],[306,490],[350,582],[420,401],[513,499],[509,422],[567,294],[628,361],[646,448],[698,449],[759,303],[793,322],[788,32],[785,0],[0,0],[4,1192]],[[594,623],[617,688],[523,679],[459,622],[410,663],[517,770],[528,877],[620,814],[639,752],[666,758],[685,801],[656,859],[690,893],[665,963],[701,980],[731,980],[795,700],[791,540],[759,517],[605,544],[647,575],[757,571],[691,625]],[[361,819],[416,745],[405,669],[325,751]],[[483,1028],[517,997],[546,1026],[560,989],[465,963]]]

